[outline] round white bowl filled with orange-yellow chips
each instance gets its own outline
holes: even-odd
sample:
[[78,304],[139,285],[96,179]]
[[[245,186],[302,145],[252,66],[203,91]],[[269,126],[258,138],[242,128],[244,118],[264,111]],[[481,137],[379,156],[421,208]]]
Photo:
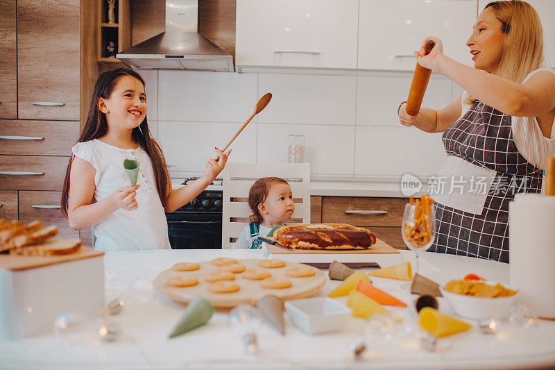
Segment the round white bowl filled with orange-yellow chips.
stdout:
[[[486,282],[486,284],[495,285],[497,283]],[[518,290],[508,285],[503,286]],[[441,294],[443,294],[447,302],[451,305],[453,311],[459,316],[466,317],[467,319],[481,320],[491,319],[493,317],[504,317],[506,314],[509,314],[509,311],[518,299],[518,292],[512,296],[484,298],[447,292],[443,287],[439,289],[441,290]]]

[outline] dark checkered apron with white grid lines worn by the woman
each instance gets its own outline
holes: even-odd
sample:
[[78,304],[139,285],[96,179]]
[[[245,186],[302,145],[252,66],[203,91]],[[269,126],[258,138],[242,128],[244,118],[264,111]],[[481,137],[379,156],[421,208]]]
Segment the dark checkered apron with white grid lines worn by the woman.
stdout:
[[516,193],[540,192],[542,170],[518,152],[511,116],[480,101],[445,130],[443,146],[447,155],[497,174],[481,215],[436,203],[438,233],[429,251],[509,262],[509,201]]

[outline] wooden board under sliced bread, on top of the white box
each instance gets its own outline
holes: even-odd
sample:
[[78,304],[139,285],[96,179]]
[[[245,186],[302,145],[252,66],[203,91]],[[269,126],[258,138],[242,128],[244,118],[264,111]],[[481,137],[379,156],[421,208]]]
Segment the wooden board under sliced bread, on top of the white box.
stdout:
[[75,260],[83,260],[85,258],[98,257],[103,255],[104,251],[92,249],[86,246],[67,255],[0,255],[0,270],[6,271],[23,271],[28,269],[36,269],[37,267],[50,266],[51,264],[58,264],[64,262],[71,262]]

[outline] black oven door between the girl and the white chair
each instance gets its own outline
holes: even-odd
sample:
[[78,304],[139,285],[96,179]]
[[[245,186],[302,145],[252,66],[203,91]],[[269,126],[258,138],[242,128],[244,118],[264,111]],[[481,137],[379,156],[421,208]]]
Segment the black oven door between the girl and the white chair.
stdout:
[[221,221],[170,221],[172,249],[221,249]]

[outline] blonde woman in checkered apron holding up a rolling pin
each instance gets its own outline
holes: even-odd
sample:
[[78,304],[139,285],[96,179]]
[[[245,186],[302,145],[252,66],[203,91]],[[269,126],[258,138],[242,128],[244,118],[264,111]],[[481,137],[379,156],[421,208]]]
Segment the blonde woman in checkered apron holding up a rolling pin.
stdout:
[[[474,68],[443,54],[441,40],[422,67],[465,90],[441,110],[422,108],[404,126],[443,132],[447,160],[436,178],[437,236],[430,251],[509,262],[509,201],[540,192],[555,153],[555,71],[542,68],[542,26],[525,1],[488,3],[466,46]],[[461,177],[462,176],[462,177]],[[479,186],[478,186],[479,185]]]

